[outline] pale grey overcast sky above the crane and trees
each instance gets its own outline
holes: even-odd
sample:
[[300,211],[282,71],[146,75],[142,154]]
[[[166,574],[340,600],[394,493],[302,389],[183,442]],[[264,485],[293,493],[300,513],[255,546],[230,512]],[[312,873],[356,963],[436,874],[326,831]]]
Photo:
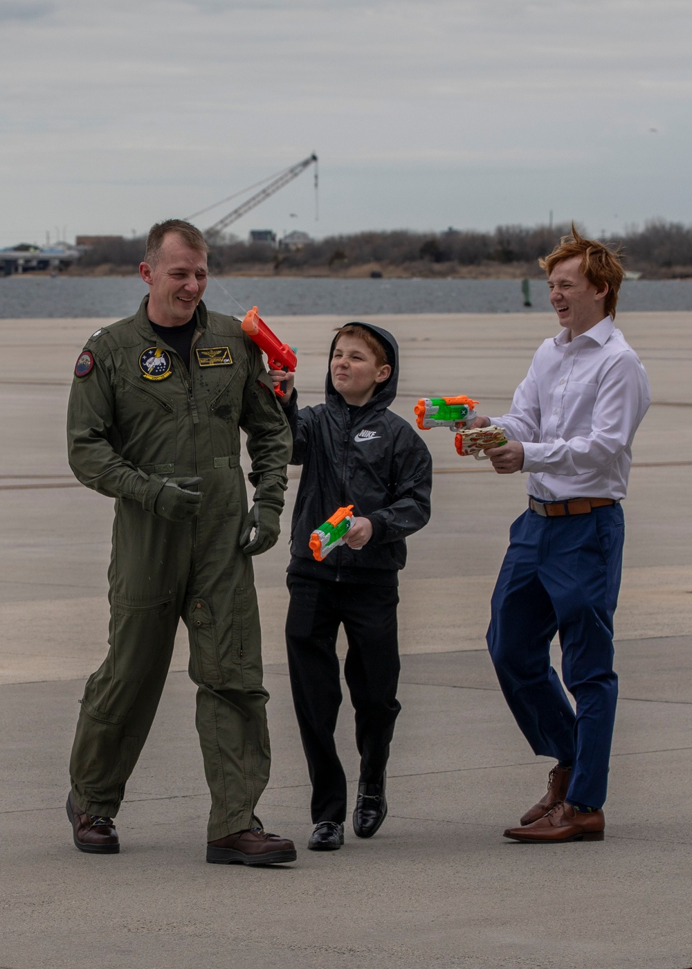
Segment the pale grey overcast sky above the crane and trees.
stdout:
[[313,151],[319,222],[308,170],[236,234],[689,224],[691,38],[692,0],[0,0],[0,245]]

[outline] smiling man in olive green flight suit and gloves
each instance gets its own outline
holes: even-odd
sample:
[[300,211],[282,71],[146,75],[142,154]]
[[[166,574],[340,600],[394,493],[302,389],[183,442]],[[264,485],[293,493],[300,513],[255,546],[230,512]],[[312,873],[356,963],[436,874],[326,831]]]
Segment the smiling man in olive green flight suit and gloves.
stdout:
[[[75,367],[70,465],[115,498],[110,650],[87,680],[67,812],[80,851],[119,850],[112,818],[156,713],[178,620],[198,685],[196,725],[211,793],[206,860],[296,859],[254,808],[269,772],[267,691],[252,555],[279,535],[291,431],[258,348],[208,312],[204,236],[154,226],[135,316],[97,330]],[[254,504],[239,465],[247,433]]]

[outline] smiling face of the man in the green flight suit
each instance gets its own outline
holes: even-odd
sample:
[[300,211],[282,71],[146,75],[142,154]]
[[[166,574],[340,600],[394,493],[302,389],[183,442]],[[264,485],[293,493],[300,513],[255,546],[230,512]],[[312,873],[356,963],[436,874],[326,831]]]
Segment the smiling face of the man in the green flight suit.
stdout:
[[164,236],[153,265],[142,263],[149,286],[147,314],[160,327],[180,327],[192,317],[206,287],[206,253],[174,232]]

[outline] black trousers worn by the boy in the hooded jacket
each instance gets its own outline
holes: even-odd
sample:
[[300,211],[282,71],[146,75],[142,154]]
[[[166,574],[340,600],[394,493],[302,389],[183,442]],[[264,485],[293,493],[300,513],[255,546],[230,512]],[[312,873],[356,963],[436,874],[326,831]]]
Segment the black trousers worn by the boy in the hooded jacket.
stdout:
[[312,782],[312,821],[346,818],[346,775],[334,730],[341,704],[336,636],[348,640],[344,675],[356,710],[361,780],[379,784],[387,766],[400,670],[396,636],[398,590],[393,586],[289,576],[286,616],[291,690]]

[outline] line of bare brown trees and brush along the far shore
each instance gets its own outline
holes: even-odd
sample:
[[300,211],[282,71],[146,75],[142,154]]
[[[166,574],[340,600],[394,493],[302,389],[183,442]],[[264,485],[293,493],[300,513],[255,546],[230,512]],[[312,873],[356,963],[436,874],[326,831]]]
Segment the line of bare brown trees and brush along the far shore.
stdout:
[[[490,276],[517,270],[540,275],[538,260],[569,234],[567,224],[526,227],[498,226],[494,232],[449,229],[443,233],[364,232],[330,235],[299,248],[244,242],[234,236],[210,239],[209,266],[216,273],[251,271],[341,275],[374,267],[411,275],[454,275],[483,269]],[[626,269],[666,277],[692,274],[692,226],[655,220],[603,239],[621,250]],[[142,261],[144,238],[99,241],[79,260],[80,269],[136,269]],[[517,274],[512,273],[512,274]]]

